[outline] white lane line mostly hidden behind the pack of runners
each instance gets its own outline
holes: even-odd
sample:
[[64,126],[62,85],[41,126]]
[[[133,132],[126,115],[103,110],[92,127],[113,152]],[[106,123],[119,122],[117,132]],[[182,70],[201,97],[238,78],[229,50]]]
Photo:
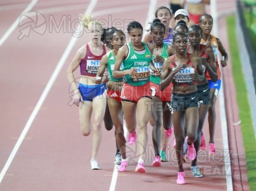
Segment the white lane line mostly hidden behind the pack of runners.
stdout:
[[[146,18],[146,22],[144,25],[144,29],[146,29],[146,26],[148,25],[148,20],[153,20],[153,13],[155,10],[155,6],[157,4],[157,0],[150,0],[150,5],[148,8],[148,17]],[[143,38],[146,34],[146,32],[143,32]],[[128,135],[128,131],[127,128],[124,127],[124,137],[126,138]],[[110,191],[115,191],[115,185],[117,185],[117,177],[118,177],[118,171],[117,171],[117,165],[115,165],[114,170],[113,170],[113,175],[112,175],[112,179],[111,179],[111,184],[110,184]]]

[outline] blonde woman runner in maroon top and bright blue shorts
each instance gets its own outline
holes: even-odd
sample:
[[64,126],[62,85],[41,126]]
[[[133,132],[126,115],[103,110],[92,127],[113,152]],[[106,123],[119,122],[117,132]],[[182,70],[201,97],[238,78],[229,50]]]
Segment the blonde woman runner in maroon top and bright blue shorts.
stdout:
[[[92,138],[92,169],[100,169],[97,162],[97,153],[101,144],[101,124],[106,109],[106,85],[96,84],[95,77],[101,64],[101,58],[106,54],[106,48],[101,42],[103,34],[102,25],[92,20],[90,15],[81,17],[82,24],[88,29],[90,41],[83,45],[77,52],[68,67],[68,80],[74,91],[74,104],[79,106],[80,128],[83,136],[89,136],[94,131]],[[80,81],[76,84],[74,71],[80,66]],[[94,111],[93,123],[91,115]]]

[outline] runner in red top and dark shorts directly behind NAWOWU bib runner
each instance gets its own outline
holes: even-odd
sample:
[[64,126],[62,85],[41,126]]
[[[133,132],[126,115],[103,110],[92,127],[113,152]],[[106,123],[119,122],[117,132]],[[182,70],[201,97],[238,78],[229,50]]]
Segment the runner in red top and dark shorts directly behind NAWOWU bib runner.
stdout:
[[[203,64],[204,73],[208,73],[210,75],[211,80],[217,81],[218,74],[217,74],[213,49],[210,46],[204,46],[200,44],[202,37],[203,37],[203,31],[201,27],[199,27],[199,25],[192,25],[188,29],[188,40],[190,44],[187,46],[187,51],[189,53],[190,58],[199,57],[201,59],[201,63]],[[206,79],[205,75],[202,76],[201,80],[197,81],[197,94],[199,98],[199,102],[198,102],[199,125],[197,128],[197,139],[196,141],[194,141],[196,153],[199,151],[199,148],[201,145],[201,132],[204,125],[204,119],[206,117],[209,104],[210,104],[210,89],[208,85],[208,80]],[[189,134],[188,129],[187,129],[187,134]],[[188,141],[190,142],[189,139]],[[189,155],[190,144],[188,143],[187,145],[188,145],[188,155]],[[197,155],[194,159],[192,159],[190,169],[194,177],[203,176],[203,174],[201,174],[199,171],[199,167],[197,167]]]

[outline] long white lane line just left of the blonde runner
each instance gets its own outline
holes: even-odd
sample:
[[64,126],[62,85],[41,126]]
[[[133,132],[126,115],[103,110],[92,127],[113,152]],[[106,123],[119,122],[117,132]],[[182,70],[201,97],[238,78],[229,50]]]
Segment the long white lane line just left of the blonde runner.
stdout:
[[[85,15],[87,15],[87,13],[92,13],[92,10],[94,10],[94,7],[96,6],[96,4],[97,4],[97,0],[91,0],[89,6],[87,7],[87,10],[85,11]],[[82,29],[82,27],[80,27],[80,28]],[[32,125],[32,122],[34,122],[34,118],[36,117],[36,115],[38,114],[38,111],[40,110],[41,106],[43,105],[48,93],[50,92],[50,89],[52,88],[54,81],[56,80],[57,76],[59,75],[60,70],[62,69],[62,67],[63,67],[66,59],[68,58],[68,55],[71,52],[73,46],[75,45],[77,39],[78,38],[75,38],[75,37],[71,38],[66,50],[64,51],[64,53],[62,54],[62,57],[59,60],[59,63],[55,67],[55,70],[53,71],[52,76],[50,77],[50,80],[48,81],[45,89],[43,90],[43,93],[41,94],[41,97],[39,98],[39,101],[36,104],[36,107],[32,111],[31,116],[29,117],[29,120],[27,121],[27,124],[25,125],[22,133],[20,134],[20,137],[18,138],[17,143],[15,144],[6,164],[3,167],[3,170],[1,171],[0,183],[3,180],[4,174],[6,174],[6,171],[10,167],[11,162],[13,161],[13,159],[18,151],[18,148],[20,148],[20,145],[22,144],[22,141],[24,140],[27,132],[29,131],[29,129]]]

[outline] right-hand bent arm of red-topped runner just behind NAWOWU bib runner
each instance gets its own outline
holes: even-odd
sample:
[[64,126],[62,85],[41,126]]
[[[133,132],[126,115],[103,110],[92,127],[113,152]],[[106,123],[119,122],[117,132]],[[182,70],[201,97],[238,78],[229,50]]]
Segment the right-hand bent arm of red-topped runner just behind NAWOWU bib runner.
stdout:
[[207,47],[206,48],[206,54],[208,56],[209,62],[206,62],[204,65],[211,77],[211,80],[214,82],[218,81],[218,73],[217,73],[217,67],[215,63],[215,56],[213,52],[213,48]]

